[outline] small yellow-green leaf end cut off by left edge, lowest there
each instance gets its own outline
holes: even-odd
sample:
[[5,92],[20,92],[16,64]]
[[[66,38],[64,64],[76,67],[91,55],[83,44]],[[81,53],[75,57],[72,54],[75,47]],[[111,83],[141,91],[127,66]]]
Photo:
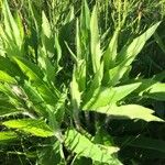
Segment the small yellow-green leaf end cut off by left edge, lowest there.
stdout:
[[16,133],[12,131],[0,132],[0,144],[12,142],[18,139]]

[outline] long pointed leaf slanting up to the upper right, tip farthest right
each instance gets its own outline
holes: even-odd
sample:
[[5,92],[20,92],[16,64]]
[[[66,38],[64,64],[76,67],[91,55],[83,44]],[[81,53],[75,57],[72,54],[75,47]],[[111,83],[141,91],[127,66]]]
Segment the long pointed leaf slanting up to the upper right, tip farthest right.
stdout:
[[150,28],[142,35],[134,38],[131,44],[123,46],[117,56],[117,66],[107,72],[106,77],[109,77],[108,84],[110,86],[116,86],[119,80],[130,68],[131,63],[134,61],[136,55],[141,52],[146,41],[153,35],[160,22]]

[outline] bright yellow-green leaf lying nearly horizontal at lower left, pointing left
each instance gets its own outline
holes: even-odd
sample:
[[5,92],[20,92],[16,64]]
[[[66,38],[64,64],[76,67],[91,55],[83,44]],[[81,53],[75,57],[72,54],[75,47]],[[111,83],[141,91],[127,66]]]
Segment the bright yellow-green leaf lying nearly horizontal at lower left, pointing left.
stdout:
[[2,123],[7,128],[18,129],[25,133],[31,133],[36,136],[47,138],[53,136],[53,131],[42,120],[22,119],[22,120],[9,120]]

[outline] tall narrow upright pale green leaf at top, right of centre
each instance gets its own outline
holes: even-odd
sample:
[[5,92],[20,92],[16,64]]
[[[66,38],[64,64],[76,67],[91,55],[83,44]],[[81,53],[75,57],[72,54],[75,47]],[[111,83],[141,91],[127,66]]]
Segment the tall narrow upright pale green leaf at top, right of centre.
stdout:
[[97,8],[95,7],[90,20],[90,47],[94,73],[100,68],[101,50],[98,29]]

